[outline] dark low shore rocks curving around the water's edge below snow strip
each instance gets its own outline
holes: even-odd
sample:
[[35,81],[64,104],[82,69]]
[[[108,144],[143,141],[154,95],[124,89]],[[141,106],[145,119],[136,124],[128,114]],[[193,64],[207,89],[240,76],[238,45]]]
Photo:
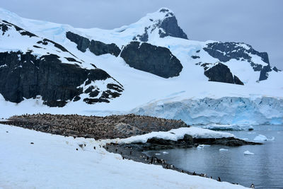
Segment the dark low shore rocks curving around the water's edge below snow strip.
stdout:
[[[208,139],[196,139],[190,136],[189,134],[185,134],[183,139],[178,139],[178,141],[172,141],[167,139],[160,139],[157,137],[148,139],[146,143],[131,143],[131,144],[106,144],[105,149],[109,152],[122,154],[122,159],[131,159],[133,161],[142,162],[144,164],[155,164],[160,165],[166,169],[172,169],[174,171],[178,171],[180,173],[187,173],[192,176],[202,176],[207,177],[205,173],[195,173],[190,171],[185,171],[181,168],[175,167],[173,164],[168,164],[164,159],[158,159],[156,156],[146,156],[143,151],[160,151],[162,149],[173,149],[173,148],[189,148],[189,147],[197,147],[199,144],[221,144],[230,147],[238,147],[241,145],[255,145],[261,144],[256,142],[247,142],[242,139],[236,139],[233,137],[229,138],[208,138]],[[210,177],[212,178],[212,176]],[[221,181],[220,178],[218,181]]]

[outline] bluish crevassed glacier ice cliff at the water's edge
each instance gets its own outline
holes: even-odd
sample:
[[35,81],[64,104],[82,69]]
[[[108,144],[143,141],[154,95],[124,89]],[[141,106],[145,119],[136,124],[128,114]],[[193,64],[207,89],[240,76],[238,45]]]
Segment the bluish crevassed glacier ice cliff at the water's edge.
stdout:
[[282,110],[282,98],[222,97],[160,100],[134,108],[131,113],[181,119],[189,125],[282,125]]

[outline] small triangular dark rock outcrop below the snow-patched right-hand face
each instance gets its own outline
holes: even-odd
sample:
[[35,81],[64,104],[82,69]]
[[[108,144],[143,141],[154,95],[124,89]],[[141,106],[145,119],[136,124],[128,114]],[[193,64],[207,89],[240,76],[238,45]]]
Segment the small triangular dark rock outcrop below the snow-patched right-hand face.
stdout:
[[204,71],[204,75],[209,78],[209,81],[243,85],[243,82],[237,76],[233,76],[230,69],[221,63]]

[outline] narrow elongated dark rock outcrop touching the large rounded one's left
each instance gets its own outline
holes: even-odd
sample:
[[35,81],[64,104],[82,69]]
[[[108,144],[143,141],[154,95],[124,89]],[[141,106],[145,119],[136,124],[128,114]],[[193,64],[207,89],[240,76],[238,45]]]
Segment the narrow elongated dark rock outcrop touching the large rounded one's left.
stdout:
[[105,55],[105,54],[111,54],[117,57],[121,50],[117,45],[114,43],[111,44],[105,44],[104,42],[96,41],[96,40],[88,40],[88,38],[83,38],[81,35],[78,35],[76,33],[71,33],[68,31],[66,33],[66,37],[71,40],[71,42],[76,43],[76,47],[81,52],[86,52],[87,49],[89,49],[91,52],[93,52],[94,55]]

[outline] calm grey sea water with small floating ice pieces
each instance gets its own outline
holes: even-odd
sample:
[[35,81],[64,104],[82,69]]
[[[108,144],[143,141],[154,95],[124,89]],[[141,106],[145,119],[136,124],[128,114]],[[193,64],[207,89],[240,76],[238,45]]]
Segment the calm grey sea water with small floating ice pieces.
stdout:
[[[169,164],[186,171],[220,177],[221,181],[246,187],[253,183],[255,188],[283,188],[283,125],[255,125],[253,128],[253,131],[229,132],[241,139],[253,140],[258,134],[274,139],[255,146],[213,145],[202,149],[168,149],[168,154],[164,151],[147,151],[146,154],[166,159]],[[254,155],[244,155],[246,150]]]

